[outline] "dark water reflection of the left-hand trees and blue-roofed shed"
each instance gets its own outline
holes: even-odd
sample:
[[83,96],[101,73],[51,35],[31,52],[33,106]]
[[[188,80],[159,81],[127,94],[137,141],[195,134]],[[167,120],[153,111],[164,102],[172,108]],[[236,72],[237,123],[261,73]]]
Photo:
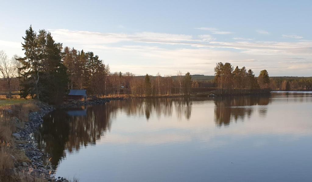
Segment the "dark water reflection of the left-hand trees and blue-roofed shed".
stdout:
[[116,100],[106,105],[55,110],[44,118],[37,142],[39,148],[51,155],[56,169],[66,151],[78,152],[83,146],[95,145],[110,131],[112,118],[116,118],[119,111],[127,116],[145,116],[149,121],[152,114],[157,118],[171,116],[173,105],[178,117],[190,118],[192,101],[189,98]]

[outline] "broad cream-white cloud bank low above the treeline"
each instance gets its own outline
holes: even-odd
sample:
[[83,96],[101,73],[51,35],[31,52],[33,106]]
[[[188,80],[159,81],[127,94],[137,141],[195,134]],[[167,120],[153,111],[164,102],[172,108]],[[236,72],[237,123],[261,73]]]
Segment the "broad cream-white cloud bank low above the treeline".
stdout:
[[[272,76],[285,75],[286,71],[289,75],[310,75],[307,69],[298,72],[295,66],[279,62],[285,61],[285,57],[288,61],[296,61],[298,57],[312,60],[312,41],[264,42],[234,37],[232,41],[222,42],[209,34],[193,37],[158,32],[101,33],[66,29],[50,32],[56,42],[62,42],[64,46],[95,52],[105,64],[110,64],[112,71],[130,71],[137,75],[156,75],[159,71],[175,75],[181,70],[213,75],[216,62],[230,60],[237,66],[252,68],[254,72],[270,64],[267,69]],[[20,43],[18,49],[21,50]],[[308,61],[300,64],[311,67]]]

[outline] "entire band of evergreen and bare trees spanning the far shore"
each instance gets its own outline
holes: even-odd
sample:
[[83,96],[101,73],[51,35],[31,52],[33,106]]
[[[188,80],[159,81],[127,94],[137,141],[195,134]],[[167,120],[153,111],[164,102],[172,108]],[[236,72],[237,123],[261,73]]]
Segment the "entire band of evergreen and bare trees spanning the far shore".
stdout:
[[171,96],[188,95],[195,88],[217,88],[230,92],[273,90],[311,90],[311,77],[269,77],[266,70],[259,76],[246,67],[219,62],[214,76],[177,75],[136,76],[130,72],[110,72],[110,66],[92,51],[63,47],[51,33],[38,32],[30,26],[22,37],[25,56],[9,59],[0,51],[1,89],[12,95],[36,97],[49,103],[61,102],[69,89],[86,89],[89,96]]

